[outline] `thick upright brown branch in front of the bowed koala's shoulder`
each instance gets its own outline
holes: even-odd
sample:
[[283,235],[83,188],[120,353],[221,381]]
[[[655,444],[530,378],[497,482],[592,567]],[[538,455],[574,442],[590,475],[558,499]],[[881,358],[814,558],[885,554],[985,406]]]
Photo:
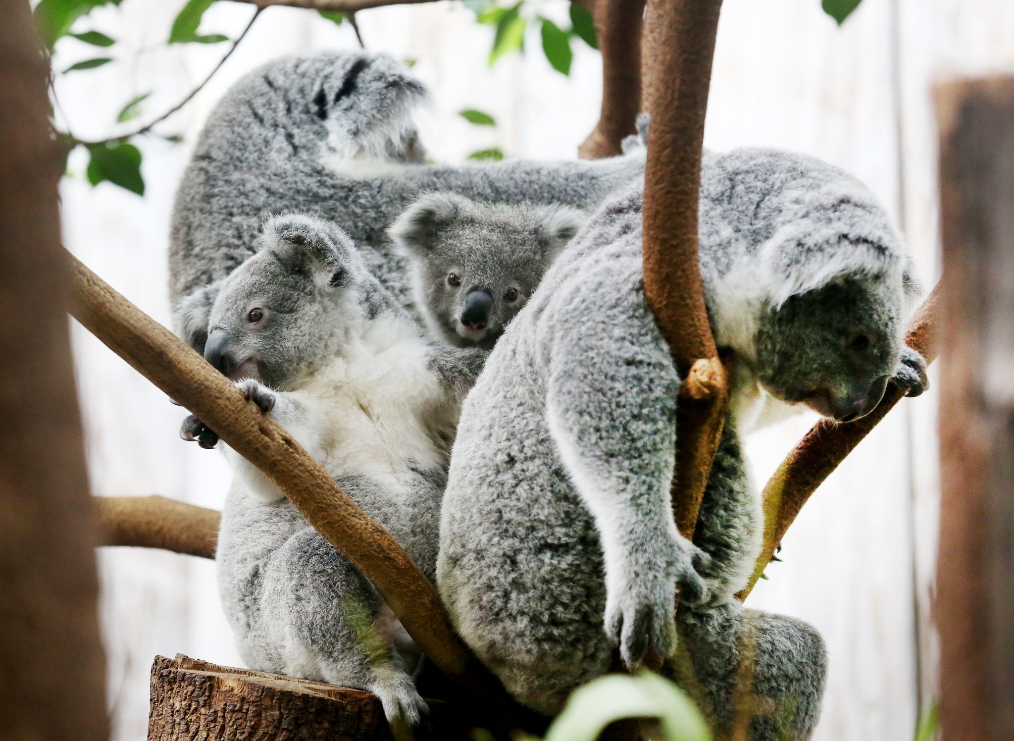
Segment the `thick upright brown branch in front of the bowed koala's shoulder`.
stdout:
[[644,292],[680,376],[672,503],[692,536],[728,409],[705,310],[698,192],[721,0],[651,0],[645,76],[651,128],[644,188]]

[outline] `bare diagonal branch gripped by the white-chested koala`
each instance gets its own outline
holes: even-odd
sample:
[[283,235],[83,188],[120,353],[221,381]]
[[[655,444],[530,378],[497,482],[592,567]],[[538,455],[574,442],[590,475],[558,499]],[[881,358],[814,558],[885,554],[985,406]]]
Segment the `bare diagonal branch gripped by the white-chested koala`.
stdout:
[[165,327],[68,253],[73,316],[142,376],[203,419],[267,474],[317,532],[362,571],[444,674],[489,701],[494,721],[531,725],[454,633],[433,585],[397,542],[360,510],[270,415]]

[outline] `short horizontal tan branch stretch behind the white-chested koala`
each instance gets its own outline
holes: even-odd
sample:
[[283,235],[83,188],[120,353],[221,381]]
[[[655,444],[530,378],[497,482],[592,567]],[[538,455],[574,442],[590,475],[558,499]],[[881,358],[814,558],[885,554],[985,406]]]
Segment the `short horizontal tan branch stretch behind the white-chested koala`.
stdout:
[[164,496],[94,496],[101,545],[164,548],[214,558],[222,515]]

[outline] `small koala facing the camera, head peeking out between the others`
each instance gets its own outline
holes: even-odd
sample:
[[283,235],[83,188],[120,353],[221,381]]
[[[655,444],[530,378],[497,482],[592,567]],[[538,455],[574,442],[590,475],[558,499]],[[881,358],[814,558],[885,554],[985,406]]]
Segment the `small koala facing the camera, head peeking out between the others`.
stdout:
[[441,192],[418,198],[388,233],[410,258],[416,304],[434,337],[488,350],[586,218],[569,206]]

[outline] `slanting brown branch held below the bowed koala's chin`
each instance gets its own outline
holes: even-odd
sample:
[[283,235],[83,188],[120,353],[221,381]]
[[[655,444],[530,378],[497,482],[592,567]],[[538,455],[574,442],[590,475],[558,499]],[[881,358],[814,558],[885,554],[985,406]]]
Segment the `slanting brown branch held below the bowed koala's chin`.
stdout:
[[[936,316],[939,292],[938,285],[913,316],[906,337],[909,346],[922,353],[928,362],[932,362],[940,352],[939,323]],[[902,398],[901,390],[890,386],[883,400],[870,414],[848,424],[817,422],[786,456],[762,494],[765,513],[764,548],[749,583],[736,595],[740,600],[746,599],[760,579],[775,549],[810,494],[816,491],[831,471],[838,468],[846,456]]]

